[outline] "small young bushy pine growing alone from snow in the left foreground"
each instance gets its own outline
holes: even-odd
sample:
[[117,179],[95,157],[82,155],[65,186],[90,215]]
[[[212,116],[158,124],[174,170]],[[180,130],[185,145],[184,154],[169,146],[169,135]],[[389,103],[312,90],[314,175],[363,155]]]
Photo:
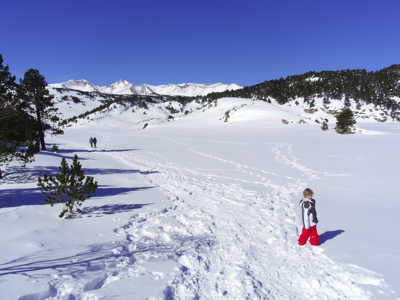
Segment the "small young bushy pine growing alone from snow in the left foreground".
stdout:
[[72,210],[76,208],[76,212],[80,212],[79,207],[82,202],[94,193],[97,181],[93,182],[91,176],[84,176],[76,154],[73,156],[70,169],[64,157],[58,168],[60,173],[55,177],[45,173],[43,179],[38,177],[37,185],[42,188],[41,193],[45,195],[45,202],[50,203],[51,206],[55,203],[64,204],[59,217],[63,217],[65,214],[72,217]]

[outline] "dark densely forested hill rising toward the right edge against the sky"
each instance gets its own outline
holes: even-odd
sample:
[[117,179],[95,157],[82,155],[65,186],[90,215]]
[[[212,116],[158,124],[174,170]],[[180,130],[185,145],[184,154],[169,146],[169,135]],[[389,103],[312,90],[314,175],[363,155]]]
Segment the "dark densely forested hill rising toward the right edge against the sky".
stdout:
[[274,99],[279,104],[303,98],[310,107],[314,106],[314,98],[323,98],[324,104],[329,104],[333,99],[343,100],[345,106],[350,106],[350,100],[353,100],[357,106],[372,103],[382,107],[391,117],[399,120],[400,65],[393,64],[375,72],[367,72],[365,69],[309,71],[242,89],[210,93],[202,98],[217,99],[226,96],[264,101]]

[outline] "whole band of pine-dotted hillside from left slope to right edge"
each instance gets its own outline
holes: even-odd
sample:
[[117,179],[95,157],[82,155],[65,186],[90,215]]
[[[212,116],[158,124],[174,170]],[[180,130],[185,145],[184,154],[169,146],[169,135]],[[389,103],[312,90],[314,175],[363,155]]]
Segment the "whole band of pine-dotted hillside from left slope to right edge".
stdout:
[[[267,102],[298,105],[299,109],[313,111],[322,109],[329,114],[336,115],[341,107],[349,107],[359,116],[368,117],[363,113],[361,105],[367,104],[369,109],[375,107],[375,116],[370,116],[379,121],[388,119],[400,120],[400,65],[393,64],[378,71],[365,69],[339,70],[339,71],[309,71],[301,75],[292,75],[286,78],[267,80],[262,83],[245,86],[236,90],[211,92],[207,95],[176,96],[176,95],[135,95],[135,94],[105,94],[98,91],[81,91],[68,88],[50,87],[58,101],[82,102],[85,99],[97,99],[100,103],[78,115],[64,118],[59,125],[65,125],[80,118],[86,118],[94,112],[106,112],[114,105],[145,108],[150,103],[179,103],[178,109],[171,105],[165,108],[170,114],[186,110],[190,102],[212,102],[222,97],[241,97]],[[331,103],[332,102],[332,103]],[[333,103],[335,102],[335,103]],[[341,103],[337,107],[337,102]],[[315,106],[315,107],[314,107]],[[314,108],[312,108],[314,107]],[[173,108],[173,109],[172,109]],[[312,108],[312,109],[309,109]],[[370,110],[372,111],[372,110]],[[379,114],[379,116],[376,116]],[[170,116],[171,118],[171,116]]]

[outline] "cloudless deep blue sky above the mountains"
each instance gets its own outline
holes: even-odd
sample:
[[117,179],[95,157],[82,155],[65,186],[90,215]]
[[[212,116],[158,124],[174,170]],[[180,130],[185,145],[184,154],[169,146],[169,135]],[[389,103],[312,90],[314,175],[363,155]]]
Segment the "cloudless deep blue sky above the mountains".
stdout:
[[12,74],[236,83],[400,63],[400,0],[1,1]]

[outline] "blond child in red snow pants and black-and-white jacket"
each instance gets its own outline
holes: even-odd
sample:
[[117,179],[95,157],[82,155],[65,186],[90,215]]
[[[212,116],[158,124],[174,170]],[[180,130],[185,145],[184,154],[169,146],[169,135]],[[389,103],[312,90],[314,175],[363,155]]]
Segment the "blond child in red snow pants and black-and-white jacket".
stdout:
[[315,200],[312,198],[314,192],[310,188],[303,190],[303,196],[300,200],[301,207],[301,218],[303,221],[303,229],[298,238],[298,244],[303,245],[307,242],[309,237],[309,242],[311,245],[319,246],[319,235],[316,232],[316,223],[318,219],[316,218],[315,211]]

